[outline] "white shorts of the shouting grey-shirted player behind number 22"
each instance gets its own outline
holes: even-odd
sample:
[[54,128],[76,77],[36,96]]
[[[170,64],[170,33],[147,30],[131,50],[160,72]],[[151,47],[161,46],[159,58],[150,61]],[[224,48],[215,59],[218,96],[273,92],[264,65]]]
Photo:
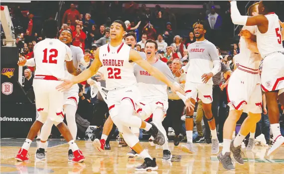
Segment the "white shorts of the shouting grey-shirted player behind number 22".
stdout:
[[166,114],[168,108],[168,101],[163,99],[142,99],[139,103],[141,108],[137,112],[139,113],[142,110],[146,113],[142,120],[150,118],[157,107],[161,107],[164,114]]

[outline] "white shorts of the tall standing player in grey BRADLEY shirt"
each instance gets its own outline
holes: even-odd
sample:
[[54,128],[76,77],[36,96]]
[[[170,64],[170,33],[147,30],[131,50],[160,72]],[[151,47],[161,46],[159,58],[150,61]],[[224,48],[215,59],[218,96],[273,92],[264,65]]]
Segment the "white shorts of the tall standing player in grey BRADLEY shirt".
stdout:
[[199,84],[193,82],[186,82],[184,87],[186,97],[193,98],[195,102],[197,101],[197,94],[198,98],[201,99],[203,103],[212,103],[212,91],[213,85],[212,84]]

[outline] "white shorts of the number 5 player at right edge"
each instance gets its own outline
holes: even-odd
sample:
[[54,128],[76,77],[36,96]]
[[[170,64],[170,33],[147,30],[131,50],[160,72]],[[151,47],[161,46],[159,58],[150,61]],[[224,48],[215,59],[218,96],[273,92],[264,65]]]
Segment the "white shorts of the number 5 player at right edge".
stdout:
[[273,53],[262,63],[261,87],[265,92],[279,90],[284,92],[284,54]]

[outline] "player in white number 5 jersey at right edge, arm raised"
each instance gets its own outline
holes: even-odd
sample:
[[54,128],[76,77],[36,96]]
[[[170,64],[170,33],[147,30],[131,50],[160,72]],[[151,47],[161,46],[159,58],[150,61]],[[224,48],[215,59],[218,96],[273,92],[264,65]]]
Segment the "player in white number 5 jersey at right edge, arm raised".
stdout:
[[[284,48],[278,15],[274,13],[277,7],[275,1],[260,1],[259,15],[242,16],[237,2],[231,1],[231,17],[234,24],[257,26],[257,47],[262,58],[261,87],[265,91],[268,106],[268,116],[274,138],[274,144],[267,155],[277,152],[284,143],[280,132],[279,108],[280,101],[284,106]],[[255,35],[251,35],[253,40]]]

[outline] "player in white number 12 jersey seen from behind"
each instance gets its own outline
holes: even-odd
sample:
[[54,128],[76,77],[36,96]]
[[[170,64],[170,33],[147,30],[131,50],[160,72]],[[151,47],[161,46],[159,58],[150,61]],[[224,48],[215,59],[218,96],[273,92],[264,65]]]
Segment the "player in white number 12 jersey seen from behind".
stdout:
[[27,138],[19,150],[16,156],[17,161],[28,161],[26,156],[27,150],[46,120],[50,120],[59,129],[70,145],[74,154],[72,162],[83,162],[85,160],[82,152],[74,142],[68,127],[63,122],[63,92],[55,88],[61,83],[60,79],[64,78],[65,61],[67,71],[70,74],[76,74],[71,50],[67,45],[56,39],[57,32],[57,21],[53,19],[46,20],[43,24],[45,39],[38,42],[33,48],[36,66],[33,88],[39,117],[31,126]]

